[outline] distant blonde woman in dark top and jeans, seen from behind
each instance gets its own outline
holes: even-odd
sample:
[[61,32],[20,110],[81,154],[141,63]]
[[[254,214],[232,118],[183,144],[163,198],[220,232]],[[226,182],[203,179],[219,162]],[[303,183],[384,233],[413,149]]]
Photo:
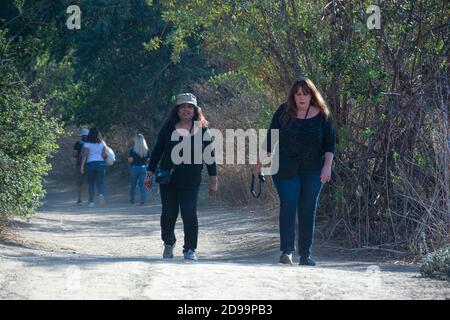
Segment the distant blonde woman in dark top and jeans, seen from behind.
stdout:
[[137,134],[133,139],[133,147],[128,154],[130,164],[130,203],[134,204],[136,185],[139,185],[141,196],[140,205],[145,203],[144,180],[147,176],[147,161],[150,158],[150,150],[147,141],[142,134]]

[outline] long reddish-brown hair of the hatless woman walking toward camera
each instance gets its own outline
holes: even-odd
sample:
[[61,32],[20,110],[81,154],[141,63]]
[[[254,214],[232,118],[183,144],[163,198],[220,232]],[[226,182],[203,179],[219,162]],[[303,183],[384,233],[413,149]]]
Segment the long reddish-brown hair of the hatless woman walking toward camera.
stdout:
[[295,94],[298,92],[298,89],[302,89],[304,93],[311,95],[311,105],[316,106],[320,109],[320,113],[328,119],[331,115],[330,109],[328,108],[325,100],[322,98],[319,90],[316,88],[311,79],[306,77],[300,77],[296,79],[289,89],[289,93],[287,96],[287,108],[281,117],[281,122],[283,124],[287,124],[297,118],[297,106],[295,105]]

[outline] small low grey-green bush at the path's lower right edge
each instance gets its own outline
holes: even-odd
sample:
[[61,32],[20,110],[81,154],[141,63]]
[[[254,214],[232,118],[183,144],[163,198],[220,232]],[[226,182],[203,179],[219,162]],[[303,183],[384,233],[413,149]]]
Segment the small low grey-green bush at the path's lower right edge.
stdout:
[[423,276],[450,281],[450,245],[425,255],[420,273]]

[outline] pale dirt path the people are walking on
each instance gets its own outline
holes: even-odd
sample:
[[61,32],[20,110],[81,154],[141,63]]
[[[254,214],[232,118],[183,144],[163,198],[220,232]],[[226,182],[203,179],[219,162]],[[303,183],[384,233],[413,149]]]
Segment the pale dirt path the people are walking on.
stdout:
[[[116,184],[117,185],[117,184]],[[250,209],[202,198],[197,263],[161,259],[159,196],[127,202],[127,186],[105,208],[74,204],[71,187],[50,184],[44,206],[0,241],[0,299],[450,299],[448,282],[416,266],[346,260],[322,253],[318,266],[280,266],[278,232]],[[298,261],[298,257],[295,257]]]

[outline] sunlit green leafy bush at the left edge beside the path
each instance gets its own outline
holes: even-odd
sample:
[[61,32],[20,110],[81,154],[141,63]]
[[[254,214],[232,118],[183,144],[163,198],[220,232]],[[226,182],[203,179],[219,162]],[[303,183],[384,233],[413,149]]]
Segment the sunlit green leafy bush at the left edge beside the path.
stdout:
[[45,191],[48,159],[56,150],[60,126],[34,102],[14,65],[5,32],[0,31],[0,215],[29,216]]

